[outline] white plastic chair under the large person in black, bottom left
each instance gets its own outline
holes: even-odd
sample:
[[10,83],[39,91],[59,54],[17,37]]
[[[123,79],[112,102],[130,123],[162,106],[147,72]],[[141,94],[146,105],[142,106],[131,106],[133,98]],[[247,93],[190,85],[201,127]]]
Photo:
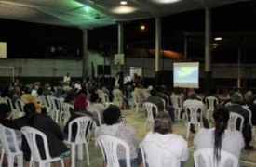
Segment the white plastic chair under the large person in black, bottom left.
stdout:
[[[23,126],[21,128],[21,133],[25,135],[27,142],[29,144],[29,147],[31,149],[32,156],[30,160],[30,167],[32,166],[33,162],[38,162],[39,167],[50,167],[50,163],[53,161],[61,161],[61,166],[64,167],[64,162],[63,160],[61,160],[60,157],[52,158],[49,155],[47,135],[29,126]],[[42,159],[40,155],[39,148],[37,146],[38,137],[42,138],[46,159]]]

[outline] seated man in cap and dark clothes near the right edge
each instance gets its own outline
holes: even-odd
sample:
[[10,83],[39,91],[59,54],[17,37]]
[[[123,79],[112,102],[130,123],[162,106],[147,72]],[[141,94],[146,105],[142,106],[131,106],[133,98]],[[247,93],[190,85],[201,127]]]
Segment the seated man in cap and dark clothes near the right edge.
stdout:
[[237,114],[240,114],[244,118],[244,126],[242,130],[242,134],[245,139],[245,150],[251,150],[254,147],[249,145],[249,142],[251,141],[251,126],[249,124],[249,112],[247,109],[244,109],[242,107],[243,102],[243,96],[236,92],[232,96],[230,96],[230,105],[227,106],[227,109],[230,112],[234,112]]

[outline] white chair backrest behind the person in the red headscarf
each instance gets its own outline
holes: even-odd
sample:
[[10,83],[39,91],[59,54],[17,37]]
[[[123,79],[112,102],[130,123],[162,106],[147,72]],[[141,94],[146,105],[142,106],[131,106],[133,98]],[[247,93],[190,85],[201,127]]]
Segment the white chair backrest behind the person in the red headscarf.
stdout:
[[[90,126],[92,124],[92,119],[88,116],[81,116],[73,121],[69,122],[69,134],[68,134],[68,140],[67,142],[72,143],[74,142],[75,144],[84,144],[87,142],[89,132],[90,132]],[[77,131],[75,135],[74,141],[72,140],[72,126],[73,124],[76,124],[77,126]]]

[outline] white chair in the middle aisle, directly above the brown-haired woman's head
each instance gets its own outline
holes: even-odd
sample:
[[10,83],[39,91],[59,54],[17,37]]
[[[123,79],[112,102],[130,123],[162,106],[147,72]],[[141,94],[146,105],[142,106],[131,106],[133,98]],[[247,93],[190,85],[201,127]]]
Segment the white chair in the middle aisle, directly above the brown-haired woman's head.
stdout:
[[145,135],[146,132],[147,132],[148,122],[151,122],[151,131],[153,130],[153,126],[154,126],[154,122],[155,122],[153,109],[155,110],[155,115],[157,115],[158,108],[154,103],[151,103],[151,102],[144,102],[143,103],[143,108],[147,112],[147,118],[146,118],[146,122],[145,122],[145,130],[144,130],[144,135]]

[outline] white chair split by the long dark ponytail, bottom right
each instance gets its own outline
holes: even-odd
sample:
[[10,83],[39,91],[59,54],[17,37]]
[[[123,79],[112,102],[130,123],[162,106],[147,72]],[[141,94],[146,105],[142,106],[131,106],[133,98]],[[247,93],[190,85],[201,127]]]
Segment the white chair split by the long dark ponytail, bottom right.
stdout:
[[235,155],[225,150],[221,150],[221,159],[218,164],[214,161],[213,148],[201,148],[195,150],[193,158],[195,167],[226,167],[227,163],[230,167],[238,167],[239,161]]

